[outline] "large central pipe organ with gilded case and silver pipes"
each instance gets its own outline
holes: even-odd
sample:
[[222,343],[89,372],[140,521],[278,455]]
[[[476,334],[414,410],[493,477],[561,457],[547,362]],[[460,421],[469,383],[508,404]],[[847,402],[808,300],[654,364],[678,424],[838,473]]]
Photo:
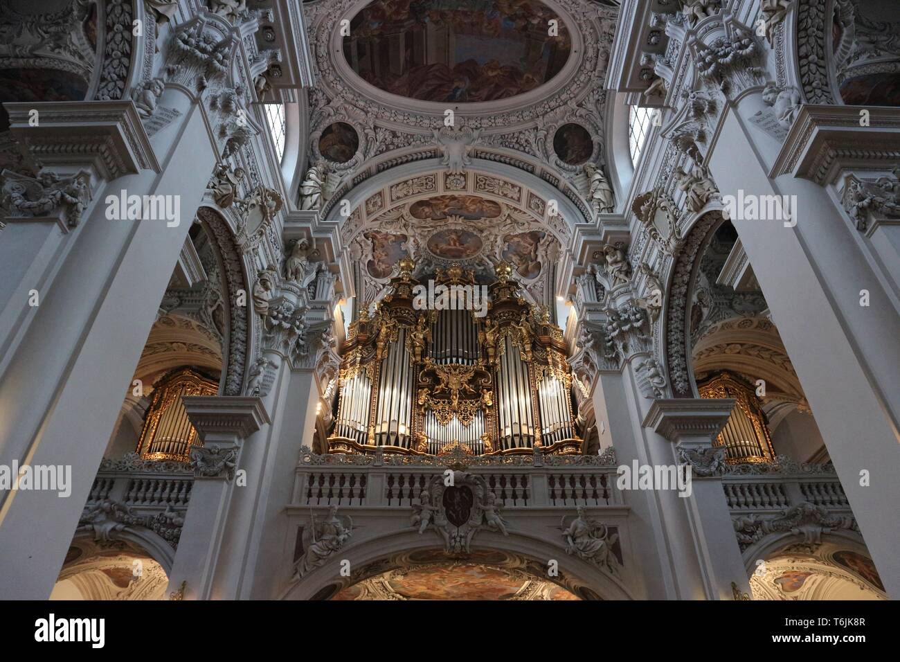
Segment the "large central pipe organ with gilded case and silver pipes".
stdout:
[[581,452],[563,332],[526,304],[512,268],[497,266],[484,314],[473,272],[438,268],[428,291],[449,296],[429,308],[414,267],[403,258],[371,317],[350,324],[329,452]]

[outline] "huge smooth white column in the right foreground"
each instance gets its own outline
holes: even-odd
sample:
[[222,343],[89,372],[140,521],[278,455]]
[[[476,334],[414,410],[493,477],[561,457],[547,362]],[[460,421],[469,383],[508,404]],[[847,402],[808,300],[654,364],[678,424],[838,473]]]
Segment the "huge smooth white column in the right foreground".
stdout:
[[[743,102],[748,103],[752,104],[752,99]],[[869,134],[858,130],[858,114],[856,128],[844,122],[842,136],[838,133],[835,137],[832,130],[832,139],[824,140],[814,116],[816,109],[805,106],[788,135],[785,150],[797,150],[797,154],[783,151],[778,160],[796,167],[776,168],[775,172],[786,174],[770,177],[770,168],[754,155],[777,151],[779,146],[773,148],[773,141],[748,125],[743,113],[732,110],[727,111],[708,162],[724,195],[737,196],[740,189],[745,195],[797,195],[794,228],[779,221],[736,218],[732,222],[866,546],[888,594],[897,596],[900,528],[892,525],[886,507],[900,503],[900,482],[896,480],[900,469],[900,392],[896,388],[900,318],[837,201],[820,183],[795,177],[815,178],[815,172],[829,163],[840,170],[842,153],[866,150],[868,144]],[[872,153],[878,151],[872,149]],[[741,168],[734,168],[736,153],[744,155]],[[819,181],[824,185],[828,180]],[[860,306],[863,289],[869,291],[869,307]],[[868,476],[868,482],[863,476]]]

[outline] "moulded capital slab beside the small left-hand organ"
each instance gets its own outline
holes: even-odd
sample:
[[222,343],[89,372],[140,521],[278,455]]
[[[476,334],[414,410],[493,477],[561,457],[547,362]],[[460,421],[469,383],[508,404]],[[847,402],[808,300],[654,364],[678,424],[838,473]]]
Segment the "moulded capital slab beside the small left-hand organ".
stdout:
[[262,398],[252,395],[189,395],[184,409],[206,444],[238,446],[270,423]]

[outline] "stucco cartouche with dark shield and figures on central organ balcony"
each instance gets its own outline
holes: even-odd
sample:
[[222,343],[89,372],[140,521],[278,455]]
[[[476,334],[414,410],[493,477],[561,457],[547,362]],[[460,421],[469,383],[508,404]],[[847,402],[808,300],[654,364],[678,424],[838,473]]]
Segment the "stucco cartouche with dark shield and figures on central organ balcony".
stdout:
[[432,476],[412,509],[410,525],[419,533],[437,531],[448,554],[469,553],[473,537],[484,528],[509,535],[497,495],[482,476],[464,471],[454,471],[450,485],[443,474]]

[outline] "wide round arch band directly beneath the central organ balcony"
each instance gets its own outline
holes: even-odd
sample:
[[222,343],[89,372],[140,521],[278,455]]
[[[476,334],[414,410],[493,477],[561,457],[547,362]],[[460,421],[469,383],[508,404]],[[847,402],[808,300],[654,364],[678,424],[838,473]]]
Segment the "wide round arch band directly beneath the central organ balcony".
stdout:
[[[391,558],[398,554],[413,551],[436,549],[433,536],[419,535],[416,531],[401,531],[386,536],[365,540],[346,551],[334,555],[324,566],[317,568],[309,576],[299,582],[293,582],[279,596],[282,600],[328,599],[343,588],[354,585],[369,576],[392,569]],[[593,566],[577,557],[561,553],[558,545],[545,540],[524,536],[513,531],[504,537],[493,531],[479,533],[474,551],[496,550],[527,559],[536,568],[535,572],[544,572],[547,560],[554,559],[559,563],[559,575],[552,579],[554,584],[562,585],[570,592],[587,599],[633,600],[634,596],[626,584],[608,572]],[[340,576],[341,561],[349,558],[351,572],[349,577]],[[448,560],[453,560],[448,557]],[[538,570],[539,568],[539,570]]]

